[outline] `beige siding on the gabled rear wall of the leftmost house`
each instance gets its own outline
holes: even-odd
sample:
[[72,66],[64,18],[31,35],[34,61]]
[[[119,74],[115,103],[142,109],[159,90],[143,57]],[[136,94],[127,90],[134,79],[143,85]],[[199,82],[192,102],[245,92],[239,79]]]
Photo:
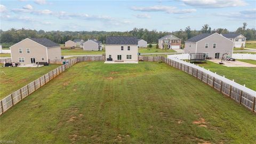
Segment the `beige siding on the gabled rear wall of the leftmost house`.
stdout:
[[[35,58],[36,62],[47,62],[46,47],[32,41],[29,38],[26,38],[23,41],[11,46],[10,49],[12,62],[19,62],[19,58],[24,58],[25,62],[21,63],[25,64],[31,63],[30,58]],[[19,49],[22,49],[22,53],[19,53]],[[26,49],[29,49],[30,53],[27,53]],[[42,57],[44,57],[45,60],[42,60]]]

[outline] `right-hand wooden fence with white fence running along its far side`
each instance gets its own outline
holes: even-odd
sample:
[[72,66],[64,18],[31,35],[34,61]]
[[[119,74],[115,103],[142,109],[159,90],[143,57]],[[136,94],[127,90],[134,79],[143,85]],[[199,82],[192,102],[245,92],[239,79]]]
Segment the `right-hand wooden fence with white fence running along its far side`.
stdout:
[[230,81],[225,77],[212,73],[202,67],[196,66],[192,63],[182,61],[176,58],[164,58],[163,62],[170,66],[178,68],[186,73],[193,75],[207,85],[212,86],[215,90],[235,100],[246,108],[256,113],[256,92],[242,86],[234,81]]

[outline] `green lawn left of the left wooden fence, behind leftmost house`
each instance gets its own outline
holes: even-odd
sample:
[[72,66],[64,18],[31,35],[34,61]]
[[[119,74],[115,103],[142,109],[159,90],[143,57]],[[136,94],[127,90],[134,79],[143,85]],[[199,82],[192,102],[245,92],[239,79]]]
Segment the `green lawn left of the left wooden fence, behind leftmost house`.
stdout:
[[6,97],[58,66],[60,65],[49,65],[39,68],[0,67],[0,98]]

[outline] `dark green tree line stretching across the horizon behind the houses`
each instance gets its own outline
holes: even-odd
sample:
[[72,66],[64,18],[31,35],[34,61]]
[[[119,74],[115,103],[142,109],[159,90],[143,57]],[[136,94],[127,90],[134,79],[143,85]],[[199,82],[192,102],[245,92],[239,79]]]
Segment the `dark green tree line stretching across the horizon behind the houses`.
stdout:
[[144,39],[148,43],[157,43],[158,39],[165,35],[174,35],[182,39],[182,43],[187,39],[202,33],[238,33],[246,37],[246,40],[256,39],[256,30],[254,28],[246,28],[247,23],[244,22],[242,27],[237,28],[236,31],[228,31],[226,28],[211,29],[207,24],[202,26],[201,30],[191,30],[188,26],[179,31],[156,31],[143,28],[133,28],[130,31],[44,31],[44,30],[31,30],[31,29],[10,29],[0,30],[0,43],[3,47],[9,47],[14,43],[20,42],[22,39],[29,38],[48,38],[51,41],[59,44],[64,44],[69,39],[97,39],[102,43],[106,42],[108,36],[136,36],[139,39]]

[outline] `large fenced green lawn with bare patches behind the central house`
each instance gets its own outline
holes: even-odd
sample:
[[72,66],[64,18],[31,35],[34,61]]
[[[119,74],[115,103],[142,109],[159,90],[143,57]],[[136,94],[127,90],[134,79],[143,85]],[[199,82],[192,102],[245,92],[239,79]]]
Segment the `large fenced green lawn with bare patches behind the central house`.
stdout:
[[256,115],[157,62],[80,62],[2,115],[15,143],[254,143]]

